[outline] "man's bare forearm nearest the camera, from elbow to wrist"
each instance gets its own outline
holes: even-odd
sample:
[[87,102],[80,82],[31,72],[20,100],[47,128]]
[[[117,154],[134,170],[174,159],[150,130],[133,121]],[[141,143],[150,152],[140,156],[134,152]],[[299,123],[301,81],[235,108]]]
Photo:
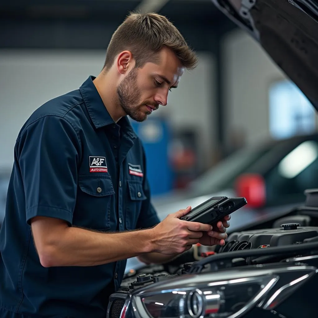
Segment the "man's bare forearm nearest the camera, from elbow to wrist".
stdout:
[[39,255],[45,267],[95,266],[151,252],[151,232],[99,233],[68,227],[43,250]]

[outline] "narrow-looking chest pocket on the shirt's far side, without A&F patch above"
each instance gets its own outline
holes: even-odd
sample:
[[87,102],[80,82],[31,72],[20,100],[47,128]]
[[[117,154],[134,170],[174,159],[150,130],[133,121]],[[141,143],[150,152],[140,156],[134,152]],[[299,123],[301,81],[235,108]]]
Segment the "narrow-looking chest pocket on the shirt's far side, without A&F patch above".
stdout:
[[142,207],[142,202],[147,199],[142,188],[142,181],[127,180],[128,200],[126,212],[126,228],[135,230]]

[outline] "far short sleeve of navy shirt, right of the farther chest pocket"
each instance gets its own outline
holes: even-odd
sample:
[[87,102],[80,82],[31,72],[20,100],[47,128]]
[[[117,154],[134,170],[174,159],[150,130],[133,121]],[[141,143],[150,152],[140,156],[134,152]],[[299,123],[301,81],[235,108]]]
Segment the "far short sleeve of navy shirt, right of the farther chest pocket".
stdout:
[[144,159],[143,160],[144,162],[143,191],[147,199],[142,201],[142,207],[141,207],[141,211],[140,211],[140,214],[137,220],[137,225],[136,225],[137,229],[150,228],[160,223],[157,212],[155,208],[153,207],[153,205],[151,204],[151,193],[150,193],[149,182],[147,179],[146,158],[145,158],[144,150],[143,150],[143,159]]

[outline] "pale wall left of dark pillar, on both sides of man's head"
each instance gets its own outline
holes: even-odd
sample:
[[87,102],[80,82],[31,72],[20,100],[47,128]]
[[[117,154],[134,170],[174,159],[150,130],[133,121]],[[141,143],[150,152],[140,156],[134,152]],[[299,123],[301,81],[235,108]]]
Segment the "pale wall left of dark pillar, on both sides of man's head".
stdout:
[[[11,168],[15,140],[30,114],[45,101],[77,89],[89,75],[96,76],[104,59],[104,51],[0,50],[0,168]],[[215,126],[213,60],[199,54],[199,61],[170,93],[161,114],[166,113],[176,128],[197,128],[201,149],[209,154]]]

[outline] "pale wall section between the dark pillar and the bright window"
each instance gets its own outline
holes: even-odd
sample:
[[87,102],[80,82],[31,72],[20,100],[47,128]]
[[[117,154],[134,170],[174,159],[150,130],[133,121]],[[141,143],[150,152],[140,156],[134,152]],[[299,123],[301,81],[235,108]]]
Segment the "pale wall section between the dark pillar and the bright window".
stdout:
[[[245,129],[247,143],[270,137],[268,88],[285,75],[248,34],[235,30],[224,39],[226,120],[234,129]],[[227,132],[227,139],[230,138]]]

